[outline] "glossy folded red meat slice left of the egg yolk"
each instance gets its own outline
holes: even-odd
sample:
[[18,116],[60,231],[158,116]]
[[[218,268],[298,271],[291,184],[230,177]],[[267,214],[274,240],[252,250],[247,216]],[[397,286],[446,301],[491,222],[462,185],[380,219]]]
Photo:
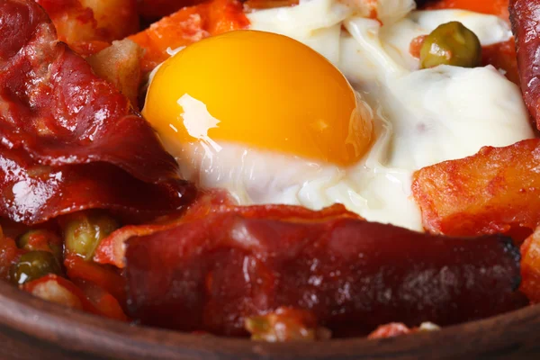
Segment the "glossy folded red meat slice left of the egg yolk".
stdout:
[[184,205],[193,187],[154,130],[58,41],[38,4],[0,2],[0,36],[0,216],[34,224],[93,207]]

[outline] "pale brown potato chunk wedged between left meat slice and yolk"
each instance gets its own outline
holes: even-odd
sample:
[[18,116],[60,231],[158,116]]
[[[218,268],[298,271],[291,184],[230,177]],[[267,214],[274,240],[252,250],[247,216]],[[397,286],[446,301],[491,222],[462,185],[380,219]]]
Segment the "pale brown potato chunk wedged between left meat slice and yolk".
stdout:
[[97,76],[109,81],[137,107],[140,84],[140,59],[143,50],[135,42],[112,41],[112,46],[86,58]]

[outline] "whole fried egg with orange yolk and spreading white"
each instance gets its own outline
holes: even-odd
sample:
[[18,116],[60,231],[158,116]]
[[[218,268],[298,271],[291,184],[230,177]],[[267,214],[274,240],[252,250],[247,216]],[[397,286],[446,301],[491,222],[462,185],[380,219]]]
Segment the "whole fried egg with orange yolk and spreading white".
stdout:
[[415,170],[534,137],[518,86],[497,69],[420,70],[409,53],[440,23],[463,22],[482,45],[509,40],[506,23],[367,3],[256,11],[251,30],[201,40],[158,67],[142,113],[181,175],[242,205],[340,202],[422,230]]

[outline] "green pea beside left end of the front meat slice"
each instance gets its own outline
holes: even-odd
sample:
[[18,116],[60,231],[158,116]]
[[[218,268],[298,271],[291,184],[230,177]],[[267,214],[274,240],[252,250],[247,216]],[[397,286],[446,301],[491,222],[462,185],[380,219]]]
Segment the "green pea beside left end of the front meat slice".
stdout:
[[90,260],[101,240],[118,228],[114,219],[98,211],[73,214],[64,225],[66,250]]

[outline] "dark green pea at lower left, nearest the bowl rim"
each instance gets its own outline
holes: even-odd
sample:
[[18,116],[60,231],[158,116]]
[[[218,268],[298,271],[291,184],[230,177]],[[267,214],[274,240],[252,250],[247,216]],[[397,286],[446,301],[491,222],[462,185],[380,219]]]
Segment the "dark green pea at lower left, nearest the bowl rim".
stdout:
[[11,267],[10,277],[14,284],[22,285],[48,274],[59,275],[61,271],[58,260],[49,251],[30,251]]

